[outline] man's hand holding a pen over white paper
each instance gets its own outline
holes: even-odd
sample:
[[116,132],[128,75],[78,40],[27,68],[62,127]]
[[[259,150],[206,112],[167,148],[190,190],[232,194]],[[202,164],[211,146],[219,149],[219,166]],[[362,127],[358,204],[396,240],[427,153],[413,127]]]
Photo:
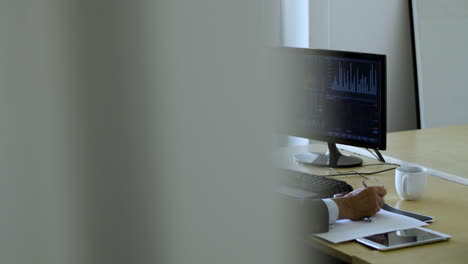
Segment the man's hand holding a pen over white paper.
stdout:
[[387,191],[383,187],[366,187],[354,190],[343,197],[334,198],[338,205],[338,219],[361,220],[375,215],[384,205]]

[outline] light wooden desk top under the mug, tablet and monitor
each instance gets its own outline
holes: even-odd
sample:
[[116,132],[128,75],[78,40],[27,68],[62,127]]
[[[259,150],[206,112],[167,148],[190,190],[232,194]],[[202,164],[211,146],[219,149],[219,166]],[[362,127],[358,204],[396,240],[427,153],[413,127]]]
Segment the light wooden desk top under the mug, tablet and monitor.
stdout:
[[[468,126],[425,129],[390,133],[385,155],[418,163],[433,169],[468,176]],[[320,151],[324,145],[288,148],[283,160],[285,166],[315,174],[333,174],[329,169],[299,165],[291,156],[307,150]],[[376,160],[362,157],[364,164],[376,164]],[[389,168],[388,165],[353,168],[371,172]],[[347,171],[340,169],[338,171]],[[369,176],[368,176],[369,177]],[[433,216],[435,221],[426,226],[452,236],[449,241],[394,251],[381,252],[357,242],[331,244],[309,236],[307,242],[350,263],[468,263],[468,186],[436,177],[428,178],[424,196],[418,201],[400,200],[395,191],[394,171],[376,174],[367,179],[369,185],[385,184],[387,204],[397,208]],[[359,188],[360,176],[338,176],[354,188]]]

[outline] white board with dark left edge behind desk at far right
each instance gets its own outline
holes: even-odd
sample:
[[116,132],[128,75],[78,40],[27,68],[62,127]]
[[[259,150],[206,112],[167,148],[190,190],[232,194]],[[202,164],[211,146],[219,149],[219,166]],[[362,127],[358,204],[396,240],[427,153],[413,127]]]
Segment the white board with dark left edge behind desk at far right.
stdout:
[[468,1],[412,0],[421,127],[467,124]]

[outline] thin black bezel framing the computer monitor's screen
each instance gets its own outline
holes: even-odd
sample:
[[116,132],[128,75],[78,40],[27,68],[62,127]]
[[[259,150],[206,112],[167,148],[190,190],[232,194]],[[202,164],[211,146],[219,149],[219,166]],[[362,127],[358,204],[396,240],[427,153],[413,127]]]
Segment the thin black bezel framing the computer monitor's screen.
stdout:
[[298,131],[290,131],[290,136],[302,137],[312,140],[325,141],[329,143],[337,143],[344,145],[351,145],[362,148],[372,148],[378,150],[385,150],[387,148],[387,58],[383,54],[363,53],[352,51],[339,51],[339,50],[324,50],[324,49],[308,49],[308,48],[293,48],[286,47],[292,52],[300,52],[306,55],[319,55],[319,56],[337,56],[353,59],[369,59],[378,60],[381,62],[381,93],[380,93],[380,120],[381,120],[381,133],[379,143],[372,143],[367,141],[359,141],[353,139],[345,139],[328,135],[321,135],[316,133],[301,133]]

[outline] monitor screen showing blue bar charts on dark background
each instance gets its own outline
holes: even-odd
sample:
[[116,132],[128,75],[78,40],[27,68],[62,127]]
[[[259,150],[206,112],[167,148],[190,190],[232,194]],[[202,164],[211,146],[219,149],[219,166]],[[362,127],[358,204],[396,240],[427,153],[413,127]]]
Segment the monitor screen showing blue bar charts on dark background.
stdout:
[[299,127],[323,136],[379,142],[383,122],[379,61],[306,55],[301,65]]

